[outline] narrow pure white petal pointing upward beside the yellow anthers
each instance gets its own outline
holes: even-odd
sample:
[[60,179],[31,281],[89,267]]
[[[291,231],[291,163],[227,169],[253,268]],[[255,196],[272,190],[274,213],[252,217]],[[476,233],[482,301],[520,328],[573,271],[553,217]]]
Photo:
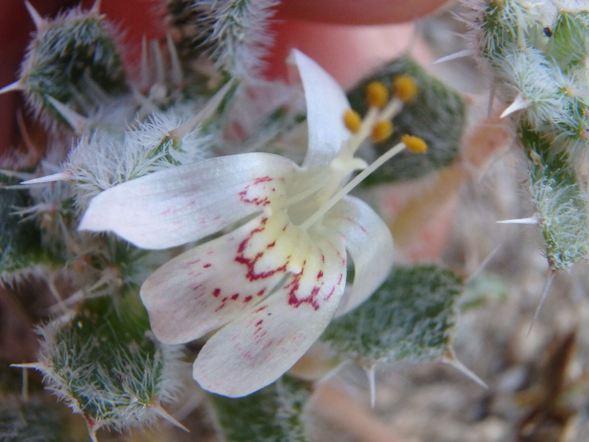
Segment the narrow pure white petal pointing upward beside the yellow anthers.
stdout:
[[320,169],[329,165],[350,137],[343,124],[350,103],[340,85],[315,61],[296,49],[290,57],[299,69],[307,101],[309,147],[303,167]]

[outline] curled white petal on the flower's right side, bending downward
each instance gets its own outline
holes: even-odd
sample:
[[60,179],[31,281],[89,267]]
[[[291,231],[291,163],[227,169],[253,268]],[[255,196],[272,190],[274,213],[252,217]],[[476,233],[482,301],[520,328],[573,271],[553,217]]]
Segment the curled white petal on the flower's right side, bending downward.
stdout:
[[391,230],[368,204],[346,196],[327,212],[323,224],[345,238],[354,262],[354,282],[337,316],[356,308],[379,288],[393,265]]

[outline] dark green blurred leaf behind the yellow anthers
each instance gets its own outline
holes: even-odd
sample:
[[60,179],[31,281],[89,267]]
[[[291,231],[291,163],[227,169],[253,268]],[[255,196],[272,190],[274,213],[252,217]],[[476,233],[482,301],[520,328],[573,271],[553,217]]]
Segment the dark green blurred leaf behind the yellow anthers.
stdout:
[[366,186],[383,182],[409,180],[447,166],[458,156],[458,147],[465,123],[465,104],[461,96],[441,81],[428,75],[409,57],[402,57],[380,68],[368,78],[356,84],[348,93],[352,108],[363,115],[368,110],[365,103],[366,85],[370,81],[391,84],[394,77],[411,75],[418,87],[418,94],[411,103],[403,106],[393,119],[393,135],[384,143],[374,146],[380,155],[401,141],[405,134],[423,138],[428,150],[423,155],[409,151],[395,156],[370,174],[363,181]]

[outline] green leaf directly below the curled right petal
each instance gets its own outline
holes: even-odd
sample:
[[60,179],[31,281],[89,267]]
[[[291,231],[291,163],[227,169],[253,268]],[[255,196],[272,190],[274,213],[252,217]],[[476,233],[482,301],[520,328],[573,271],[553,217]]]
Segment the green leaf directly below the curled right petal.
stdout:
[[332,321],[321,339],[360,363],[436,359],[451,344],[462,290],[449,270],[398,266],[368,301]]

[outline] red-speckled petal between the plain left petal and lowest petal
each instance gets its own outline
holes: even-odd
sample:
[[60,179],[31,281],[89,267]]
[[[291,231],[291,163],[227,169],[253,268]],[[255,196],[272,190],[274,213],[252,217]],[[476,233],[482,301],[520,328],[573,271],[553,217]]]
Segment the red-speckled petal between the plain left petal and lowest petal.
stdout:
[[191,341],[256,305],[286,275],[300,232],[286,210],[260,215],[161,266],[140,293],[155,336]]

